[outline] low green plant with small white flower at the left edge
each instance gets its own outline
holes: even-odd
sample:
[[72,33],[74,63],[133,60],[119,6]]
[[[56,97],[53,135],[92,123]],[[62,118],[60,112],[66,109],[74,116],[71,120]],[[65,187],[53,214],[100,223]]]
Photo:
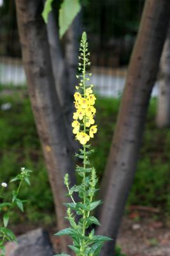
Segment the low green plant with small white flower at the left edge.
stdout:
[[10,220],[11,213],[13,209],[17,206],[20,211],[24,211],[23,203],[25,200],[20,200],[18,197],[20,188],[24,182],[30,185],[29,176],[31,170],[26,170],[25,168],[21,168],[21,173],[18,174],[14,179],[11,179],[10,182],[18,182],[17,190],[12,191],[12,198],[11,202],[4,201],[4,189],[8,187],[6,182],[1,183],[0,189],[0,217],[1,217],[1,224],[0,224],[0,256],[5,256],[5,243],[7,241],[16,242],[16,237],[13,232],[8,228],[8,223]]

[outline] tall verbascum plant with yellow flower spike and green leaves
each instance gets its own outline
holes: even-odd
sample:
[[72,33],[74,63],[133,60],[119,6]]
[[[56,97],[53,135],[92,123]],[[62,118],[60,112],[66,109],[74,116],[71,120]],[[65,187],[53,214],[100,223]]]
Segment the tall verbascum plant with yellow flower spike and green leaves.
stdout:
[[[106,236],[96,236],[94,228],[90,225],[100,225],[97,218],[92,216],[92,211],[101,204],[101,200],[93,201],[97,191],[96,170],[90,166],[89,156],[93,150],[89,144],[90,138],[94,138],[97,132],[94,116],[96,108],[94,107],[96,97],[93,93],[93,84],[90,84],[90,74],[87,67],[90,66],[90,52],[88,49],[87,35],[83,32],[80,42],[80,56],[78,70],[80,74],[76,77],[80,80],[76,86],[77,92],[74,93],[74,106],[76,111],[73,114],[73,133],[76,140],[80,141],[81,148],[79,157],[82,160],[81,166],[76,166],[76,172],[81,177],[81,184],[70,186],[69,175],[64,177],[64,184],[68,190],[72,202],[65,204],[67,207],[66,219],[69,220],[71,227],[65,228],[56,236],[71,236],[72,245],[68,245],[76,256],[97,256],[101,252],[101,248],[105,241],[111,239]],[[74,200],[74,193],[78,193],[79,202]],[[76,214],[79,215],[76,221]],[[89,231],[90,230],[90,231]],[[68,254],[57,254],[55,256],[69,256]]]

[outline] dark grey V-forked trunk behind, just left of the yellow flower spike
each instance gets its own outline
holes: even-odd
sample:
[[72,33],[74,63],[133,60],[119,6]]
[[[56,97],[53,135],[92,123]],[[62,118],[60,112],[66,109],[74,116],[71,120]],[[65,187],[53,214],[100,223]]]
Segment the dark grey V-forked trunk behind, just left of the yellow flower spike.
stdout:
[[80,36],[81,28],[80,24],[79,13],[64,36],[64,45],[60,44],[59,31],[53,12],[49,14],[48,23],[46,24],[55,87],[64,112],[67,133],[73,152],[78,150],[78,143],[74,140],[71,123],[74,111],[74,86],[77,83],[76,71],[78,63],[78,38]]

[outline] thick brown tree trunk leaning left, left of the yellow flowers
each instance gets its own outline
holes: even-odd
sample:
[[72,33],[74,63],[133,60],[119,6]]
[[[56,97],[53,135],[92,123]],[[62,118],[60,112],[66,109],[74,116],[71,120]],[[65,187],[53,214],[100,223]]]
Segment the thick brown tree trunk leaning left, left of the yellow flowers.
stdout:
[[[73,163],[62,108],[55,90],[46,26],[41,17],[43,4],[42,0],[15,2],[32,110],[52,186],[57,224],[62,229],[67,226],[63,205],[67,192],[62,180],[66,173],[74,180]],[[62,250],[65,252],[69,252],[69,242],[66,237],[61,239]]]

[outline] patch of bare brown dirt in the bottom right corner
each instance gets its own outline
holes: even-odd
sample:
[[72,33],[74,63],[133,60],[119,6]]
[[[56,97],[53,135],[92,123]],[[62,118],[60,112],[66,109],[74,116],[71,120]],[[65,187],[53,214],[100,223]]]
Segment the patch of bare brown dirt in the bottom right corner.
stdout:
[[169,223],[154,218],[124,218],[118,245],[127,256],[170,256]]

